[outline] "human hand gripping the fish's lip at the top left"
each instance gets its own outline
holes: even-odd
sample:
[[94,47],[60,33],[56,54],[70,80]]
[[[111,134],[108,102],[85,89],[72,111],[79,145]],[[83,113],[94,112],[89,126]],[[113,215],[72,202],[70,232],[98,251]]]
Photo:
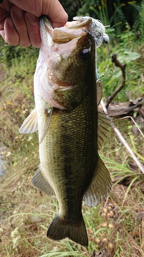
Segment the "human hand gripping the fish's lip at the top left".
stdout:
[[53,28],[64,26],[68,20],[58,0],[4,0],[0,4],[0,34],[11,46],[40,47],[42,14],[50,18]]

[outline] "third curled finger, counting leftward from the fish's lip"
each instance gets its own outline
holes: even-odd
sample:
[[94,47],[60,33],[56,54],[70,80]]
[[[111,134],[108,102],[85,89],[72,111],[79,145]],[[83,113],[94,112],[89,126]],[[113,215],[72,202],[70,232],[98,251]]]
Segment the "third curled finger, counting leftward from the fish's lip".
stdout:
[[11,17],[8,17],[4,23],[4,30],[1,30],[1,35],[6,43],[11,46],[17,46],[19,42],[19,35],[14,27]]

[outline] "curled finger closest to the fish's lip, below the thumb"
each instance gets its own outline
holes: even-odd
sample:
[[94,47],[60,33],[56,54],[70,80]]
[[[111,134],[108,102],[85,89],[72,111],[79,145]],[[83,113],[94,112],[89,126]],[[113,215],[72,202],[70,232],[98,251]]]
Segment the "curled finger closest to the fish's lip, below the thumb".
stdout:
[[25,21],[31,45],[40,47],[42,40],[39,32],[39,18],[29,12],[25,12]]

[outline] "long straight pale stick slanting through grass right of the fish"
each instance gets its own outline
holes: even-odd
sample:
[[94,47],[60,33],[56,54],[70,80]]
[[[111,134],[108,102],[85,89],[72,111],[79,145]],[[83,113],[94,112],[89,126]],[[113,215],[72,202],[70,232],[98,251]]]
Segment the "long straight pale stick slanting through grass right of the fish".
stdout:
[[[108,114],[107,108],[105,106],[104,101],[101,99],[101,106],[104,109],[104,113]],[[112,119],[109,117],[109,119],[112,121]],[[115,133],[118,135],[119,139],[121,140],[121,142],[125,145],[126,149],[129,151],[131,157],[133,158],[133,160],[136,162],[138,168],[140,169],[140,171],[144,174],[144,168],[142,166],[142,164],[139,162],[139,160],[137,159],[136,155],[133,153],[133,151],[131,150],[130,146],[128,145],[128,143],[126,142],[125,138],[122,137],[120,131],[118,130],[118,128],[115,126],[115,124],[113,123],[113,121],[111,122],[112,128],[115,131]]]

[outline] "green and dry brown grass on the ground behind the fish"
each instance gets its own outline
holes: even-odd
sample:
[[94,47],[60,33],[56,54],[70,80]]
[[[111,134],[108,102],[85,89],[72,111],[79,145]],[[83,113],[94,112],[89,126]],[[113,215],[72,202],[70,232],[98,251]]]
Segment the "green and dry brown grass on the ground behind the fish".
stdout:
[[[52,241],[47,229],[58,211],[57,200],[37,190],[31,178],[39,164],[38,136],[20,135],[18,128],[34,108],[33,74],[36,58],[13,60],[0,70],[1,154],[6,173],[0,178],[0,256],[144,256],[143,175],[130,169],[131,157],[117,144],[112,128],[100,150],[113,187],[106,203],[94,208],[83,204],[88,248],[70,240]],[[135,64],[134,64],[135,65]],[[136,79],[137,81],[138,79]],[[138,84],[141,88],[140,77]],[[135,94],[140,91],[135,89]],[[130,147],[143,163],[143,138],[132,137],[130,121],[115,121]],[[108,255],[106,255],[108,253]]]

